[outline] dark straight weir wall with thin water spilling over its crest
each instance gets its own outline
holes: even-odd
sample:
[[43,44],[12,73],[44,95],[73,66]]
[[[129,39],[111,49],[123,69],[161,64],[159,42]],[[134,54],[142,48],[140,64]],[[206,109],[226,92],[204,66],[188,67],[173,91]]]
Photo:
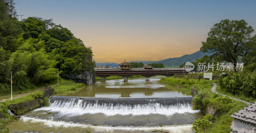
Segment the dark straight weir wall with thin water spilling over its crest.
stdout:
[[[192,96],[180,97],[158,97],[158,98],[95,98],[95,97],[67,97],[51,96],[50,103],[57,106],[134,106],[134,105],[152,105],[159,104],[162,106],[191,104]],[[68,104],[68,105],[67,105]]]

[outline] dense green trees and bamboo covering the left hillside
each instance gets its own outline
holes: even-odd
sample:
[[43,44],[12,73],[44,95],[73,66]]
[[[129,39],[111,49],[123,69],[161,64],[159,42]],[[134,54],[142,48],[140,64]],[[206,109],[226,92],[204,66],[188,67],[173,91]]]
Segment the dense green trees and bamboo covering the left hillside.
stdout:
[[61,76],[93,71],[91,47],[52,19],[28,17],[18,21],[13,0],[0,0],[0,94],[32,90]]

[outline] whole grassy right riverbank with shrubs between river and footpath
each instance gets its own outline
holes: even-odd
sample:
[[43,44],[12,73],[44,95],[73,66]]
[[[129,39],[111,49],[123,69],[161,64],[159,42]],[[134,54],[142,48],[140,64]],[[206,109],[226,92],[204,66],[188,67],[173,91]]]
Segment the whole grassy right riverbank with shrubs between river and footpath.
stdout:
[[234,120],[234,118],[230,117],[230,115],[247,106],[247,104],[244,102],[222,97],[220,94],[218,95],[213,93],[211,91],[213,87],[211,82],[217,83],[216,85],[219,87],[218,80],[201,79],[199,81],[198,79],[178,79],[174,77],[164,77],[160,81],[170,85],[182,85],[182,89],[190,89],[190,87],[199,84],[195,87],[197,90],[199,90],[199,94],[193,98],[193,107],[199,108],[202,113],[205,113],[205,108],[207,106],[218,111],[218,117],[213,119],[213,125],[211,128],[204,130],[205,133],[229,133],[231,131],[231,123]]

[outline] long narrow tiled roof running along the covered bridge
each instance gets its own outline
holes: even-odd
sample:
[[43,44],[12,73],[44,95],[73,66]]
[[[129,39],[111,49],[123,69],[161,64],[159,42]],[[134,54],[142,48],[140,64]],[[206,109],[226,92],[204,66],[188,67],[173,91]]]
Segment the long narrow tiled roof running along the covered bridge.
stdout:
[[119,69],[119,68],[96,68],[94,69],[95,72],[99,71],[183,71],[184,68],[151,68],[151,69],[145,69],[145,68],[131,68],[131,69]]

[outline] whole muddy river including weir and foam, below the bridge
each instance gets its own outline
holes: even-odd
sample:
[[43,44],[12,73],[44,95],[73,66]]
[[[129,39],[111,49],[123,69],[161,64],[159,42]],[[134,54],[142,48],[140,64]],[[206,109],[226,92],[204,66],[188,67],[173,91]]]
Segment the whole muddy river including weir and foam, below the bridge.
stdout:
[[7,127],[11,132],[189,133],[203,114],[191,108],[191,91],[156,81],[162,76],[109,80],[67,96],[51,96],[50,106],[35,109]]

